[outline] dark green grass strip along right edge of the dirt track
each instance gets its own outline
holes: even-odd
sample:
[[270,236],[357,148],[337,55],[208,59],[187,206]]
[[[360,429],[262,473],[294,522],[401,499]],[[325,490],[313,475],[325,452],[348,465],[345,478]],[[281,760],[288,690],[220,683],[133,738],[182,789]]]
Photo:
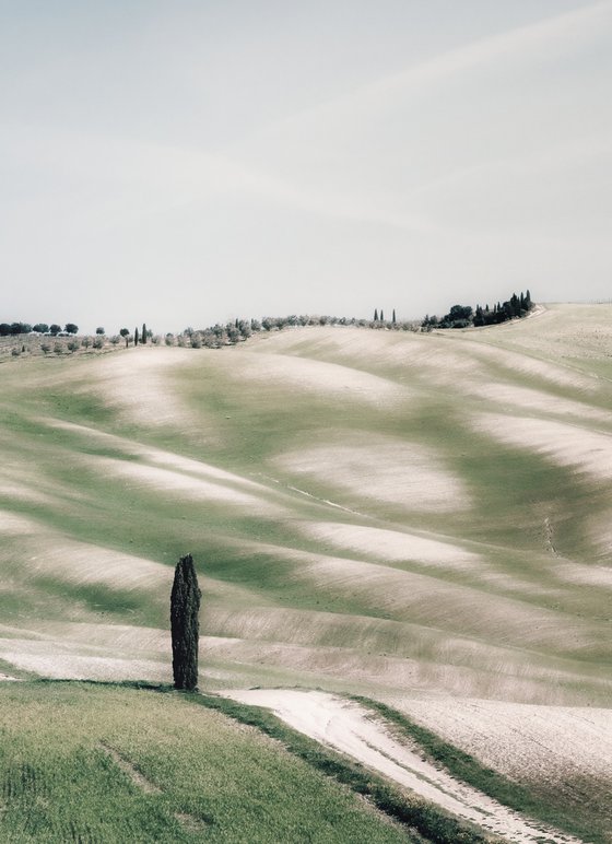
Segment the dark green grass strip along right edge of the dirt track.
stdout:
[[444,741],[435,732],[410,720],[397,710],[369,698],[354,695],[353,700],[379,713],[386,722],[398,727],[400,732],[414,739],[431,761],[443,765],[452,776],[472,785],[510,809],[544,821],[589,844],[610,842],[610,830],[601,828],[592,817],[588,822],[577,817],[575,807],[567,805],[565,800],[562,801],[558,796],[555,799],[554,794],[546,792],[545,783],[542,783],[539,788],[528,788],[526,785],[513,782],[481,764],[469,753]]

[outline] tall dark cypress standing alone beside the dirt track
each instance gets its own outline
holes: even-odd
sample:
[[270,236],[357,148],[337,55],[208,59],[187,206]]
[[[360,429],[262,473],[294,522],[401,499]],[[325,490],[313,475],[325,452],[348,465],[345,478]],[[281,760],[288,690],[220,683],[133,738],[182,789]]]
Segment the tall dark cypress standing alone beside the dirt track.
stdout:
[[173,676],[175,689],[193,691],[198,687],[198,643],[200,638],[200,598],[198,577],[191,554],[176,564],[170,595]]

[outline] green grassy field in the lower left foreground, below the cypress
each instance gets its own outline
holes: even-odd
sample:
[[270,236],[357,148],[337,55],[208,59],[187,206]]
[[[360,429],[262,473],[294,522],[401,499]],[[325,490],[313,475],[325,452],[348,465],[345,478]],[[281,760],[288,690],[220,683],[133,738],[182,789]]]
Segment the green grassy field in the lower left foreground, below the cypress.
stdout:
[[416,842],[259,730],[175,694],[0,687],[0,840]]

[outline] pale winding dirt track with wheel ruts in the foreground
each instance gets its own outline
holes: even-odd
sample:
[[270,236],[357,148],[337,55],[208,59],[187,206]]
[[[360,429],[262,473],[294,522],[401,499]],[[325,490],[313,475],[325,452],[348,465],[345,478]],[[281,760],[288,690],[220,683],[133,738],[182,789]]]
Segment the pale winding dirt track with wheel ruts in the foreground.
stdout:
[[447,811],[511,842],[578,842],[521,818],[476,789],[424,761],[400,743],[358,704],[323,692],[256,689],[224,692],[233,700],[271,708],[294,729],[378,771]]

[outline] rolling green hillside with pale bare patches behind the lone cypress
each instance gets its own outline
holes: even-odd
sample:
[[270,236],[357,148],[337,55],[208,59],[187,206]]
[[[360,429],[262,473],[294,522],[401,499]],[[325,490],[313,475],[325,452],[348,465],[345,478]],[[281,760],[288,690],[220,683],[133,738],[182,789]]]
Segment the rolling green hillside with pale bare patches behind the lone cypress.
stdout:
[[604,712],[611,354],[612,307],[555,306],[5,361],[0,671],[169,680],[191,552],[203,688]]

